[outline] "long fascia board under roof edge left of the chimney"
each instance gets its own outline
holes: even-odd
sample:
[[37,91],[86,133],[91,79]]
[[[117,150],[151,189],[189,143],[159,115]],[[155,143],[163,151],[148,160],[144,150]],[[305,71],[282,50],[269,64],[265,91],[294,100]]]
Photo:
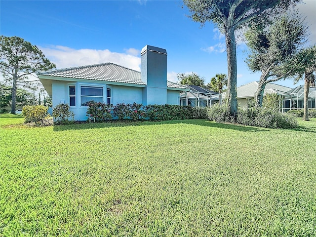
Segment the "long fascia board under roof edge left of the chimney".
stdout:
[[39,79],[49,79],[49,80],[89,82],[89,83],[99,83],[99,84],[108,84],[108,85],[124,85],[124,86],[134,86],[134,87],[146,87],[146,85],[142,85],[142,84],[123,83],[123,82],[107,81],[107,80],[76,79],[76,78],[64,78],[64,77],[54,77],[54,76],[45,76],[45,75],[38,75],[38,77],[39,77]]

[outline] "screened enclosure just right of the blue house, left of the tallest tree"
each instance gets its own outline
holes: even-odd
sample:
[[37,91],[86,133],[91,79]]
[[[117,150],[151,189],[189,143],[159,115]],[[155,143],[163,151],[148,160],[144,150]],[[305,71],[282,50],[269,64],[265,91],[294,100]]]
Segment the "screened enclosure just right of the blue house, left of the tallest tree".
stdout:
[[220,94],[198,85],[186,85],[190,91],[180,94],[180,105],[192,107],[210,107],[219,101]]

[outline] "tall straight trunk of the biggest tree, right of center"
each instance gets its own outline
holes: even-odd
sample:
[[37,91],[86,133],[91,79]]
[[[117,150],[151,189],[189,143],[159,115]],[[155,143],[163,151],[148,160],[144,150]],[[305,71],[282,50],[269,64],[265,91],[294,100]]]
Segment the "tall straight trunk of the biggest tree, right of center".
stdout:
[[230,115],[236,117],[237,114],[237,56],[235,29],[226,28],[226,47],[227,47],[227,105]]

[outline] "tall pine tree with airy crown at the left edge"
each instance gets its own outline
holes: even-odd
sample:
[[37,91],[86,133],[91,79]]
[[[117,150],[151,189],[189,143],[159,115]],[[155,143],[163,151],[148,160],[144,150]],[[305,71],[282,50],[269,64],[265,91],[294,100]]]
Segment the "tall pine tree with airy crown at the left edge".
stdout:
[[0,36],[0,71],[4,83],[12,85],[11,113],[15,114],[17,86],[28,86],[31,74],[56,66],[45,58],[40,49],[19,37]]

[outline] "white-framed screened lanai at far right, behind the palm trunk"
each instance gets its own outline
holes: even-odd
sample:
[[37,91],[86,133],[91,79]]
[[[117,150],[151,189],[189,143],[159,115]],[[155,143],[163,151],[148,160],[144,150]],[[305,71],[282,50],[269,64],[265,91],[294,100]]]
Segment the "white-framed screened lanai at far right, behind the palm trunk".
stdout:
[[[310,87],[308,94],[308,108],[316,109],[316,87]],[[304,85],[282,94],[282,112],[289,110],[299,110],[304,108]]]

